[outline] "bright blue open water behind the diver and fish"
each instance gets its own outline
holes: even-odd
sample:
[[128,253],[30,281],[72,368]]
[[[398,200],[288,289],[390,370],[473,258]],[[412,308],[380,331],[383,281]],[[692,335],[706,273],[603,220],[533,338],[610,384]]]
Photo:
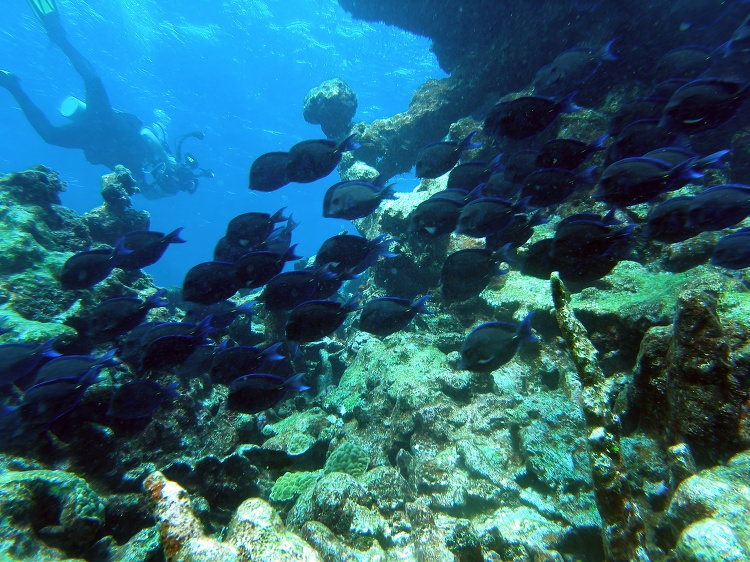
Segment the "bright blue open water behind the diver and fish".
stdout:
[[[83,86],[22,0],[4,5],[0,68],[18,74],[31,98],[53,123],[67,95]],[[151,229],[184,226],[187,244],[171,246],[146,271],[159,285],[179,285],[193,265],[208,261],[227,222],[247,211],[287,206],[301,224],[298,253],[315,253],[327,237],[350,223],[322,218],[325,189],[338,181],[290,184],[274,193],[251,193],[247,175],[264,152],[287,150],[303,139],[323,138],[302,118],[305,94],[339,77],[356,92],[355,121],[405,111],[414,89],[443,77],[429,41],[385,25],[353,21],[335,0],[58,0],[71,42],[101,74],[112,105],[144,122],[169,121],[168,133],[201,130],[184,150],[216,177],[201,180],[194,195],[134,205],[151,213]],[[63,204],[83,213],[101,204],[103,166],[81,151],[46,145],[13,98],[0,90],[0,172],[41,163],[60,172],[68,190]],[[398,178],[397,178],[398,180]],[[414,182],[401,178],[400,189]]]

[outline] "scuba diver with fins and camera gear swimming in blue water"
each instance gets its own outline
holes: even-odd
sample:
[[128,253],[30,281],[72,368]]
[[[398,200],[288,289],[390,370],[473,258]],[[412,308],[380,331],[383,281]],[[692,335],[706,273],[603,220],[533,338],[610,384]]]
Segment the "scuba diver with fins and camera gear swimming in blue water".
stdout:
[[[60,106],[69,122],[52,125],[47,116],[21,89],[15,74],[0,70],[0,86],[10,92],[21,107],[26,119],[48,144],[83,150],[86,160],[103,164],[110,170],[121,164],[128,168],[149,198],[175,195],[179,191],[194,193],[198,178],[213,177],[210,170],[201,168],[195,158],[182,158],[182,142],[189,137],[202,139],[203,133],[192,132],[177,142],[173,156],[166,143],[163,129],[161,139],[157,127],[147,127],[135,115],[113,109],[104,83],[91,63],[70,43],[62,27],[54,0],[28,0],[47,35],[68,57],[73,68],[83,79],[85,101],[68,96]],[[158,127],[160,128],[160,127]],[[151,180],[147,180],[147,172]]]

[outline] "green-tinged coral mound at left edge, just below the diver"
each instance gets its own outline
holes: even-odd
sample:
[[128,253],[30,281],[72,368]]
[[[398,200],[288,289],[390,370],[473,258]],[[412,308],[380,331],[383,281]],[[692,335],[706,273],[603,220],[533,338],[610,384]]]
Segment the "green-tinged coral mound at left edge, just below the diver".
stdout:
[[[128,189],[129,177],[122,169],[105,176],[103,183],[127,193],[123,190]],[[60,205],[58,193],[65,189],[57,174],[43,166],[0,178],[0,315],[8,317],[6,327],[12,329],[6,339],[20,338],[28,343],[53,337],[70,339],[74,330],[60,320],[74,316],[82,306],[108,296],[153,290],[141,273],[121,270],[91,294],[62,290],[58,278],[73,253],[114,243],[113,237],[116,241],[134,225],[148,226],[147,213],[130,208],[127,197],[124,209],[105,203],[96,213],[78,216]],[[137,220],[131,220],[133,216]]]

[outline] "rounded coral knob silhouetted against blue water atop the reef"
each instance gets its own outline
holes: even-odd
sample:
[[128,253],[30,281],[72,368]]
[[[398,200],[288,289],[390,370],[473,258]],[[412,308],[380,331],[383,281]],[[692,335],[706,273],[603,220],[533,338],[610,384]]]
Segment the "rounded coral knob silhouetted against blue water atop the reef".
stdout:
[[341,78],[331,78],[316,86],[305,96],[302,116],[313,125],[320,125],[329,139],[346,136],[357,112],[357,96]]

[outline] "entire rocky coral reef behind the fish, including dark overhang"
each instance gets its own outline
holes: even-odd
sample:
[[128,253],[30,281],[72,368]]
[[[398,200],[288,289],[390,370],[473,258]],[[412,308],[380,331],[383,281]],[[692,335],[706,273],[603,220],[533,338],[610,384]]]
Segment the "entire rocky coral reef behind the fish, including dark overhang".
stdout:
[[[351,124],[356,97],[342,81],[310,91],[305,119],[331,138],[356,133],[362,144],[343,156],[342,180],[410,170],[427,143],[465,138],[482,128],[491,104],[534,94],[533,73],[562,49],[614,39],[620,60],[608,61],[601,80],[576,94],[588,109],[561,115],[536,139],[592,142],[626,99],[649,93],[656,57],[685,37],[675,33],[682,22],[670,3],[646,0],[618,5],[606,18],[568,1],[542,3],[544,13],[531,2],[339,3],[355,17],[426,35],[451,72],[417,89],[406,112],[373,123]],[[743,4],[727,6],[717,25],[731,26],[731,10]],[[747,168],[745,132],[710,135],[693,148],[704,154],[701,143],[731,146],[731,166],[706,171],[676,194],[745,181],[734,179]],[[483,146],[464,162],[536,146],[481,132],[475,139]],[[605,156],[591,161],[602,165]],[[320,341],[273,348],[284,356],[273,368],[304,371],[311,388],[252,415],[227,408],[230,391],[212,378],[209,361],[233,345],[230,338],[264,347],[281,337],[283,314],[264,315],[260,305],[260,315],[208,334],[184,369],[108,366],[49,431],[4,449],[12,455],[0,457],[7,557],[747,559],[750,299],[747,273],[729,276],[707,265],[720,234],[665,245],[640,236],[650,204],[618,208],[614,219],[633,229],[636,242],[604,277],[563,287],[556,273],[549,281],[499,264],[507,273],[480,294],[449,302],[441,298],[446,257],[485,241],[409,229],[410,213],[446,182],[423,180],[355,222],[369,239],[397,238],[390,247],[397,255],[342,291],[362,293],[364,302],[429,294],[433,314],[382,338],[361,331],[352,314]],[[76,320],[94,305],[155,293],[147,275],[122,270],[90,290],[61,289],[72,253],[112,246],[149,224],[130,204],[135,187],[125,169],[103,178],[103,205],[81,216],[60,205],[64,189],[43,167],[0,178],[0,316],[10,329],[2,343],[57,337],[75,349]],[[577,192],[545,211],[548,222],[503,259],[528,258],[564,217],[608,210],[589,191]],[[148,318],[186,318],[175,295],[170,290],[169,307]],[[536,342],[492,372],[460,368],[473,328],[518,324],[532,313]],[[103,354],[115,342],[107,344],[86,352]],[[176,396],[152,415],[115,419],[113,393],[134,380],[171,385]],[[8,389],[6,429],[25,390]]]

